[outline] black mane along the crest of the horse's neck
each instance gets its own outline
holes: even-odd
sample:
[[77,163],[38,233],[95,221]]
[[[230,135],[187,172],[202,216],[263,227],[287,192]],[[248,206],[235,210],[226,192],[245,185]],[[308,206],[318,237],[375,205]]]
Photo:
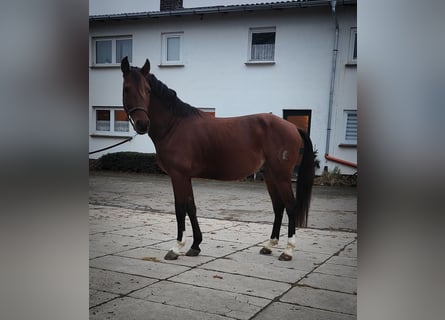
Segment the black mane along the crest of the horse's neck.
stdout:
[[151,93],[161,99],[165,106],[175,115],[180,117],[202,115],[201,110],[179,99],[176,92],[158,80],[154,74],[148,74],[147,79],[151,87]]

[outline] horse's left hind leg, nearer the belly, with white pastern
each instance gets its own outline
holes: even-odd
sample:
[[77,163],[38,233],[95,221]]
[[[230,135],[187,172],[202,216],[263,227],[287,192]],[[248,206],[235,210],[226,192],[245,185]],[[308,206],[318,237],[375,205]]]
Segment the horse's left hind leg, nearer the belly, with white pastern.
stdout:
[[272,248],[278,245],[278,240],[280,238],[281,223],[283,221],[284,213],[284,203],[281,200],[280,194],[273,182],[273,177],[269,174],[267,167],[264,170],[264,178],[266,180],[267,191],[269,192],[270,198],[272,200],[272,207],[275,214],[275,219],[272,228],[272,234],[270,239],[263,244],[261,248],[261,254],[271,254]]

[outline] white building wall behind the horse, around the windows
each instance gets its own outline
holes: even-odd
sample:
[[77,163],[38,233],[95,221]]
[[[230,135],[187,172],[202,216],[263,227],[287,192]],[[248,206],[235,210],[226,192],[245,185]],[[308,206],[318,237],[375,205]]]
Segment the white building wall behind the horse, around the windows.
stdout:
[[[344,54],[347,57],[347,51],[342,51],[344,46],[349,46],[349,25],[356,25],[355,11],[343,15],[341,23],[342,49],[339,51],[337,83],[346,84],[336,86],[335,134],[332,134],[331,149],[336,157],[344,156],[345,160],[355,162],[355,149],[336,150],[343,130],[337,133],[343,126],[342,108],[356,108],[355,71],[346,70],[340,61]],[[270,26],[276,27],[276,63],[246,65],[249,28]],[[347,34],[343,34],[343,29],[348,30]],[[178,31],[184,32],[185,66],[160,67],[161,33]],[[319,151],[322,168],[328,165],[332,169],[336,165],[325,163],[323,157],[334,41],[334,23],[329,7],[205,15],[202,20],[200,16],[184,16],[98,23],[90,31],[91,37],[127,34],[133,35],[133,65],[142,66],[148,58],[151,72],[174,89],[182,100],[196,107],[215,108],[218,117],[260,112],[272,112],[282,117],[283,109],[311,109],[311,138]],[[91,68],[91,115],[91,106],[122,105],[121,91],[119,67]],[[91,125],[94,131],[94,124]],[[90,137],[90,150],[121,140]],[[106,152],[124,150],[155,152],[148,136],[137,136],[130,143]],[[102,154],[90,157],[97,158]],[[348,173],[348,168],[341,169]]]

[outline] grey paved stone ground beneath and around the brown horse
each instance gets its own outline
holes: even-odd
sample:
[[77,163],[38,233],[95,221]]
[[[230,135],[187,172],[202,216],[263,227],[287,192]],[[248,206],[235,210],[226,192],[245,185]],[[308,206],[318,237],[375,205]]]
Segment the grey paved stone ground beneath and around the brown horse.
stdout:
[[273,221],[264,183],[198,179],[194,191],[201,255],[166,261],[176,236],[168,177],[90,175],[91,319],[356,318],[355,188],[314,187],[290,262],[278,260],[284,226],[272,255],[259,254]]

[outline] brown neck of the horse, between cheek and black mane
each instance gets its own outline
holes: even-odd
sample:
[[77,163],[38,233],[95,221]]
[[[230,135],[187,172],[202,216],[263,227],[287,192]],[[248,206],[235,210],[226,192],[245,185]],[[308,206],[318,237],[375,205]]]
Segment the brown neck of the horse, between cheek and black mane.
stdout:
[[155,144],[167,136],[178,121],[171,110],[155,95],[151,96],[148,116],[150,119],[148,134]]

